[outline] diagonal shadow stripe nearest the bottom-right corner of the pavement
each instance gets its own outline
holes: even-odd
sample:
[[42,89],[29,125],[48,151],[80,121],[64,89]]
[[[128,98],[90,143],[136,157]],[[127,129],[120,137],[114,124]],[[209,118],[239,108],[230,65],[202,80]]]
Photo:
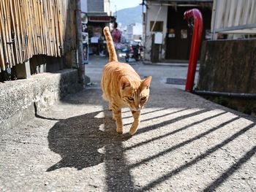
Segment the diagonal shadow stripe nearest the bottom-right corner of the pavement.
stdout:
[[256,153],[256,146],[252,147],[251,150],[249,150],[243,157],[241,157],[236,164],[233,164],[230,166],[229,169],[227,169],[226,172],[222,173],[220,177],[217,178],[211,185],[208,185],[207,188],[205,188],[203,191],[208,192],[208,191],[215,191],[219,185],[222,185],[222,183],[227,180],[228,177],[230,177],[234,172],[236,172],[238,169],[241,168],[243,164],[245,164],[247,161],[249,161],[250,158],[252,158],[253,155]]

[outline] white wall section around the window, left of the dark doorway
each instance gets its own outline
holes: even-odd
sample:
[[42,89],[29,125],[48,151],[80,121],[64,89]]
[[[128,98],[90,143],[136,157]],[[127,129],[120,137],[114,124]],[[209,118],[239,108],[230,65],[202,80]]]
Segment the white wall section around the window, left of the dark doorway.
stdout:
[[[152,34],[154,32],[150,32],[150,21],[163,21],[163,45],[165,45],[165,34],[167,30],[167,6],[162,6],[159,11],[159,5],[150,5],[148,4],[148,9],[146,10],[146,42],[145,42],[145,59],[151,59],[151,44],[152,44]],[[157,13],[159,14],[157,15]],[[165,58],[165,50],[162,49],[162,53],[160,53],[161,58]]]

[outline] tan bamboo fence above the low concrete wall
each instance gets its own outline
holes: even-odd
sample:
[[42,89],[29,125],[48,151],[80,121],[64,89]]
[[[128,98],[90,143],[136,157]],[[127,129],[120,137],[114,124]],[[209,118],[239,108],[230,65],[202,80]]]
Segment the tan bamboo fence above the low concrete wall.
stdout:
[[33,55],[60,57],[74,48],[72,12],[72,0],[1,0],[0,72]]

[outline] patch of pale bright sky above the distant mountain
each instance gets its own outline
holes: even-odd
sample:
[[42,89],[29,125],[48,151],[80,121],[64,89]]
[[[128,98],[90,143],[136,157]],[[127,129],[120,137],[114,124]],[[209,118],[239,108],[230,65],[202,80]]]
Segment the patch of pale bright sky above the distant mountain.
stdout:
[[110,10],[112,12],[116,12],[116,10],[118,11],[120,9],[136,7],[141,3],[142,0],[110,0]]

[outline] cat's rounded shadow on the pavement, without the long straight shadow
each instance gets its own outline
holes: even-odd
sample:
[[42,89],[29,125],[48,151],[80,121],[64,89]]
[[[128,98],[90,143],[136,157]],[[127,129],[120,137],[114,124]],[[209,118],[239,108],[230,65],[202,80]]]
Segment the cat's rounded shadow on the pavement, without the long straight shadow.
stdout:
[[[110,115],[98,118],[99,113],[108,112],[91,112],[67,118],[60,120],[53,128],[50,128],[49,147],[50,150],[61,155],[61,161],[50,166],[47,172],[62,167],[81,170],[101,164],[105,158],[108,158],[108,155],[118,150],[119,154],[122,154],[121,142],[129,139],[129,135],[117,134],[116,123]],[[115,145],[115,147],[108,147],[108,145]]]

